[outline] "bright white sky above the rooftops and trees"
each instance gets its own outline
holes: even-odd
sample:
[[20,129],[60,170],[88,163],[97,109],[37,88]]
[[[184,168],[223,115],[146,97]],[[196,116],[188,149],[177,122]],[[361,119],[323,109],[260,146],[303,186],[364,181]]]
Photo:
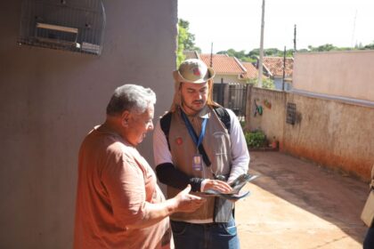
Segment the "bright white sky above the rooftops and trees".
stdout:
[[[178,18],[204,53],[260,47],[262,0],[178,0]],[[281,51],[374,42],[374,0],[265,0],[264,48]]]

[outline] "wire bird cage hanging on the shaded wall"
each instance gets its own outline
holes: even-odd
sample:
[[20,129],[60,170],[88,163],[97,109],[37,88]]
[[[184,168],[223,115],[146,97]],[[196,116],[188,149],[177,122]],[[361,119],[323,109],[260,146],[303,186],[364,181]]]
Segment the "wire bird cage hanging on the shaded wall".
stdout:
[[100,54],[105,28],[101,0],[23,0],[19,44]]

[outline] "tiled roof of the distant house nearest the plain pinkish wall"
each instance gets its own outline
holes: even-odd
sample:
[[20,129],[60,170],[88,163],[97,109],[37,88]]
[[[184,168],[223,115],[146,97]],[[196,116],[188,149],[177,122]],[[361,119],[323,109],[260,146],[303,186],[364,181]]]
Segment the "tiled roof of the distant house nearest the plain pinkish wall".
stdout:
[[[283,57],[264,57],[264,67],[272,76],[283,76]],[[294,59],[286,58],[285,76],[292,76],[294,68]]]

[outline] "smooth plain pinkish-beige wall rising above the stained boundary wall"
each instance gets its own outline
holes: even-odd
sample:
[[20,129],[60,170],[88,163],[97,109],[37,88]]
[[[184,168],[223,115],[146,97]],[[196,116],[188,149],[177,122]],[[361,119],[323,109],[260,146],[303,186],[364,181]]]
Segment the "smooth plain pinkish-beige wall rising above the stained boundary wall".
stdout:
[[293,89],[374,101],[374,51],[295,53]]

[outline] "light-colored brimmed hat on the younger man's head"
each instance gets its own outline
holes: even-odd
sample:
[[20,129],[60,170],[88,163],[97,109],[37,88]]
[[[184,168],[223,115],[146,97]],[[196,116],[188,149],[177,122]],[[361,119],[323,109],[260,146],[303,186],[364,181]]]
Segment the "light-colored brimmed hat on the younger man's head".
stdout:
[[215,70],[208,68],[202,60],[184,60],[178,70],[173,72],[176,82],[201,84],[215,76]]

